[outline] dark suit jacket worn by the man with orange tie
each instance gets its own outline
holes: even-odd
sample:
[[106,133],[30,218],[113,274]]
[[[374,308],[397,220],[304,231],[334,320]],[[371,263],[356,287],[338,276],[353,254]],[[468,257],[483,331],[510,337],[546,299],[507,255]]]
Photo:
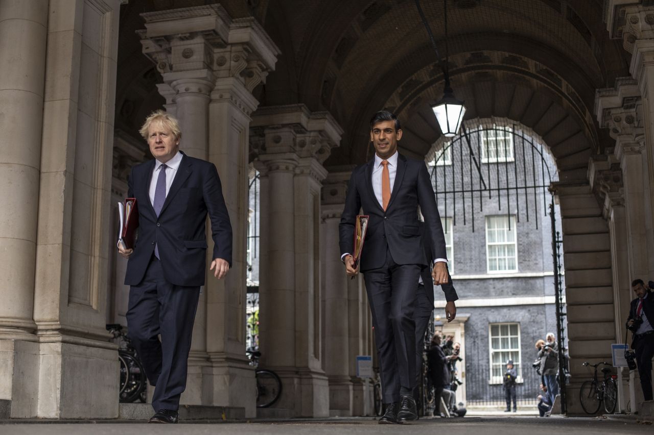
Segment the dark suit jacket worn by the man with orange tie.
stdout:
[[432,234],[430,249],[436,258],[447,259],[445,236],[436,208],[436,197],[424,161],[398,155],[398,168],[386,211],[375,197],[372,170],[375,159],[356,167],[350,178],[345,208],[339,225],[341,255],[352,253],[356,215],[370,216],[360,270],[380,268],[386,260],[387,248],[398,265],[428,265],[421,244],[418,206]]

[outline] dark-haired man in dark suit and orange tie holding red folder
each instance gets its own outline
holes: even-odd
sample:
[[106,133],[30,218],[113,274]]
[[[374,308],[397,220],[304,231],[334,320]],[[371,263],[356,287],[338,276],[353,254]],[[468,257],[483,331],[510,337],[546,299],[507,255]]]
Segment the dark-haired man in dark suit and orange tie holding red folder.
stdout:
[[[370,216],[359,268],[375,327],[382,400],[379,423],[418,418],[415,387],[415,297],[422,266],[432,268],[437,285],[447,282],[445,237],[424,161],[398,153],[398,118],[382,110],[370,121],[375,157],[353,170],[339,225],[341,260],[347,274],[357,273],[351,255],[359,210]],[[432,235],[434,263],[421,244],[418,207]],[[432,265],[433,264],[433,265]]]

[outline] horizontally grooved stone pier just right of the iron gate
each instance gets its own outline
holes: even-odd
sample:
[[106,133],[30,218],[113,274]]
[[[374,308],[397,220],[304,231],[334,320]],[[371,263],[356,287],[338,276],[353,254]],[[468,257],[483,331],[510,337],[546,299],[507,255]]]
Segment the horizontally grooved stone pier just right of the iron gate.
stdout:
[[[590,185],[553,184],[560,204],[564,264],[568,349],[572,379],[567,387],[570,415],[583,414],[579,388],[589,372],[584,361],[610,361],[615,343],[613,282],[609,228]],[[592,375],[592,374],[591,374]]]

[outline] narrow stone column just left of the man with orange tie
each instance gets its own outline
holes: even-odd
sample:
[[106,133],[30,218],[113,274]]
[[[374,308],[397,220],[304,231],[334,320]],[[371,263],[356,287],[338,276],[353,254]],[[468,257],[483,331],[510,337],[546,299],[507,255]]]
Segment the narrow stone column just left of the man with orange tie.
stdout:
[[[330,415],[332,417],[354,415],[353,379],[350,367],[353,365],[356,355],[362,355],[362,353],[351,354],[349,352],[351,347],[350,321],[356,322],[355,324],[358,326],[359,313],[358,306],[355,307],[355,312],[350,311],[348,283],[350,279],[345,274],[339,248],[338,226],[345,205],[345,191],[349,176],[349,172],[334,172],[327,176],[322,186],[322,224],[320,226],[322,234],[324,234],[322,257],[326,355],[324,370],[329,379]],[[347,315],[345,315],[346,313]],[[356,340],[358,339],[359,336],[356,334]]]

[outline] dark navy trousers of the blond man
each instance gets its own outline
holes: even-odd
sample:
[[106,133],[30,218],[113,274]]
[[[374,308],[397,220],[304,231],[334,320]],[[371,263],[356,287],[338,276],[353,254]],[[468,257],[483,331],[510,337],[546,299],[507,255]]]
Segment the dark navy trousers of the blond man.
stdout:
[[150,385],[155,387],[155,411],[179,409],[179,397],[186,389],[199,291],[199,287],[167,282],[154,255],[143,281],[129,289],[128,336],[139,353]]

